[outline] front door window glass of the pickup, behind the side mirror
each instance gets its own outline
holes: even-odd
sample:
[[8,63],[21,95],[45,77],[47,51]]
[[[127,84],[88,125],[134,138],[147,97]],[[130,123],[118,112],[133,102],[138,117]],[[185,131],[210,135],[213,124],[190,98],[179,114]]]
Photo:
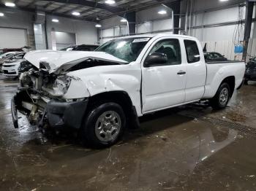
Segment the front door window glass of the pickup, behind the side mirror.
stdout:
[[167,65],[181,64],[181,47],[178,39],[165,39],[157,42],[149,54],[154,52],[167,55]]

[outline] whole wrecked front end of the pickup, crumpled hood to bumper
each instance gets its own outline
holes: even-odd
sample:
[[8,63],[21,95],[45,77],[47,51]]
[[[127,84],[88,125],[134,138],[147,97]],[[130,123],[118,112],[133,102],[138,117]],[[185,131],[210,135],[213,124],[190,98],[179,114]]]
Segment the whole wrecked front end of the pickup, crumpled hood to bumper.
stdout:
[[[12,98],[12,119],[18,128],[17,110],[32,125],[80,128],[90,97],[80,77],[72,71],[96,66],[126,64],[106,52],[31,51],[25,55],[29,69],[20,74],[20,87]],[[31,67],[31,68],[30,68]]]

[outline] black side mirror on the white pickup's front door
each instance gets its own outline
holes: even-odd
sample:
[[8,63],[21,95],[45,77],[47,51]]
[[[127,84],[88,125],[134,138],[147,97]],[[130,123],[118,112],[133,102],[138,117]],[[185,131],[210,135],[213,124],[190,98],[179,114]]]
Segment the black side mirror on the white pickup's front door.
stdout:
[[167,55],[164,53],[154,52],[148,55],[148,57],[145,60],[144,67],[150,67],[150,66],[161,66],[166,64],[168,61]]

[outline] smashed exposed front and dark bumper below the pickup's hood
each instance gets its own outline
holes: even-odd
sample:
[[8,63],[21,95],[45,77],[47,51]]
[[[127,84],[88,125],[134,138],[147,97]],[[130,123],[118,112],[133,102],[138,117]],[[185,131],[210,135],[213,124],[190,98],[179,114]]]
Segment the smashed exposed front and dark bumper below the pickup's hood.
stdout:
[[12,120],[18,128],[17,110],[31,125],[44,128],[80,128],[86,112],[86,98],[65,99],[72,80],[67,74],[49,74],[44,63],[39,69],[20,74],[18,92],[12,98]]

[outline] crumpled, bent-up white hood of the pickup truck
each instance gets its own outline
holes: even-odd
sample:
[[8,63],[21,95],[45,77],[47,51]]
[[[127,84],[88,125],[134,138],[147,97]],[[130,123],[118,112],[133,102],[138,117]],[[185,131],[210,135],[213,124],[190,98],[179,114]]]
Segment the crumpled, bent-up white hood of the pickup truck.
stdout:
[[59,74],[67,71],[76,64],[89,59],[99,61],[109,61],[112,63],[127,63],[106,52],[87,52],[87,51],[54,51],[54,50],[37,50],[26,53],[26,61],[39,69],[40,63],[43,64],[49,73]]

